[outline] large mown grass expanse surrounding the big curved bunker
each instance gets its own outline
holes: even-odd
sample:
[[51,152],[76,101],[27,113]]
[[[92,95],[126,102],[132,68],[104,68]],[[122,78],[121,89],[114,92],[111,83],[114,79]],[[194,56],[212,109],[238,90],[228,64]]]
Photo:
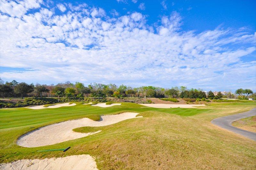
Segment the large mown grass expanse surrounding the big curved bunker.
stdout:
[[[216,117],[241,113],[255,103],[212,103],[198,108],[152,108],[134,103],[101,108],[91,105],[47,108],[0,109],[0,162],[90,154],[99,169],[255,169],[255,142],[210,123]],[[16,145],[20,135],[70,119],[125,111],[143,118],[103,127],[80,127],[77,132],[101,132],[49,146]],[[68,152],[36,152],[65,148]]]

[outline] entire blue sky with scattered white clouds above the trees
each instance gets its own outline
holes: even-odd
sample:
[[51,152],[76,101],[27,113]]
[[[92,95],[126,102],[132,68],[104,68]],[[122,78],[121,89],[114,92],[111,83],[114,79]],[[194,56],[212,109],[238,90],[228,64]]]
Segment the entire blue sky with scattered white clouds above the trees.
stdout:
[[255,1],[1,1],[1,79],[256,91]]

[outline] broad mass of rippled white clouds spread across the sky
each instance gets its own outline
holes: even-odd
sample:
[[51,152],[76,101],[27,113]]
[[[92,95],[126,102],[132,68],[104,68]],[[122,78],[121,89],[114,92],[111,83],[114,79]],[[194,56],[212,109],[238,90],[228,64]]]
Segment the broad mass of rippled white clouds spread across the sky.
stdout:
[[[182,30],[176,11],[153,27],[139,12],[109,17],[101,8],[65,4],[65,14],[56,15],[24,3],[1,2],[0,63],[35,71],[3,72],[6,81],[255,90],[256,62],[242,58],[255,55],[256,33],[245,28],[196,33]],[[27,14],[31,8],[38,10]]]

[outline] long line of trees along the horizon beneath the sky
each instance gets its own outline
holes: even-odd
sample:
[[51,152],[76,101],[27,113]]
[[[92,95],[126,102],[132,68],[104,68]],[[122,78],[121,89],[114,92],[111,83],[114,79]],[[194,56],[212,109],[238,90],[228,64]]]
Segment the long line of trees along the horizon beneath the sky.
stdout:
[[[132,88],[126,85],[117,86],[115,84],[99,84],[91,83],[85,86],[83,83],[76,82],[75,84],[69,81],[65,83],[58,83],[57,85],[41,85],[41,84],[27,84],[25,82],[17,82],[13,80],[11,82],[3,81],[0,83],[1,97],[93,97],[93,98],[104,98],[104,97],[157,97],[157,98],[214,98],[220,99],[225,97],[218,92],[214,95],[212,91],[208,92],[206,96],[202,89],[187,89],[185,86],[172,87],[172,88],[161,88],[154,86],[141,86]],[[250,89],[238,89],[236,94],[241,99],[246,99],[249,94],[252,94]],[[234,96],[230,92],[229,98]]]

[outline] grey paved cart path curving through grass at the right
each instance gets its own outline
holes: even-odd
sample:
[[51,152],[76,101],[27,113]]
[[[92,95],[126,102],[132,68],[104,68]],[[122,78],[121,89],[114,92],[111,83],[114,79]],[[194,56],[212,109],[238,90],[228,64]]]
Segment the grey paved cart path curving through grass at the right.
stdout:
[[256,133],[250,132],[250,131],[247,131],[247,130],[244,130],[244,129],[239,129],[239,128],[236,128],[236,127],[231,125],[231,123],[236,121],[236,120],[251,117],[251,116],[255,116],[255,115],[256,115],[256,108],[254,108],[254,109],[252,109],[248,112],[239,113],[239,114],[236,114],[236,115],[228,115],[228,116],[219,117],[219,118],[213,119],[211,121],[211,123],[214,124],[214,125],[217,125],[221,128],[227,129],[229,131],[232,131],[234,133],[237,133],[239,135],[242,135],[244,137],[248,137],[248,138],[256,141]]

